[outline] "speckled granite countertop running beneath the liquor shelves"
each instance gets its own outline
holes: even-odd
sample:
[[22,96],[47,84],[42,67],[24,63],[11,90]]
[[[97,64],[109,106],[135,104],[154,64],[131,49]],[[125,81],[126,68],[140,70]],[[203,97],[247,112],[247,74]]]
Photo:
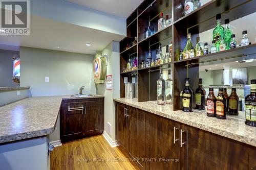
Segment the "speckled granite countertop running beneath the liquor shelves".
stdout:
[[245,120],[241,118],[227,116],[222,120],[208,117],[204,111],[173,111],[172,105],[160,106],[156,102],[138,102],[137,99],[121,98],[114,101],[256,147],[256,128],[245,125]]

